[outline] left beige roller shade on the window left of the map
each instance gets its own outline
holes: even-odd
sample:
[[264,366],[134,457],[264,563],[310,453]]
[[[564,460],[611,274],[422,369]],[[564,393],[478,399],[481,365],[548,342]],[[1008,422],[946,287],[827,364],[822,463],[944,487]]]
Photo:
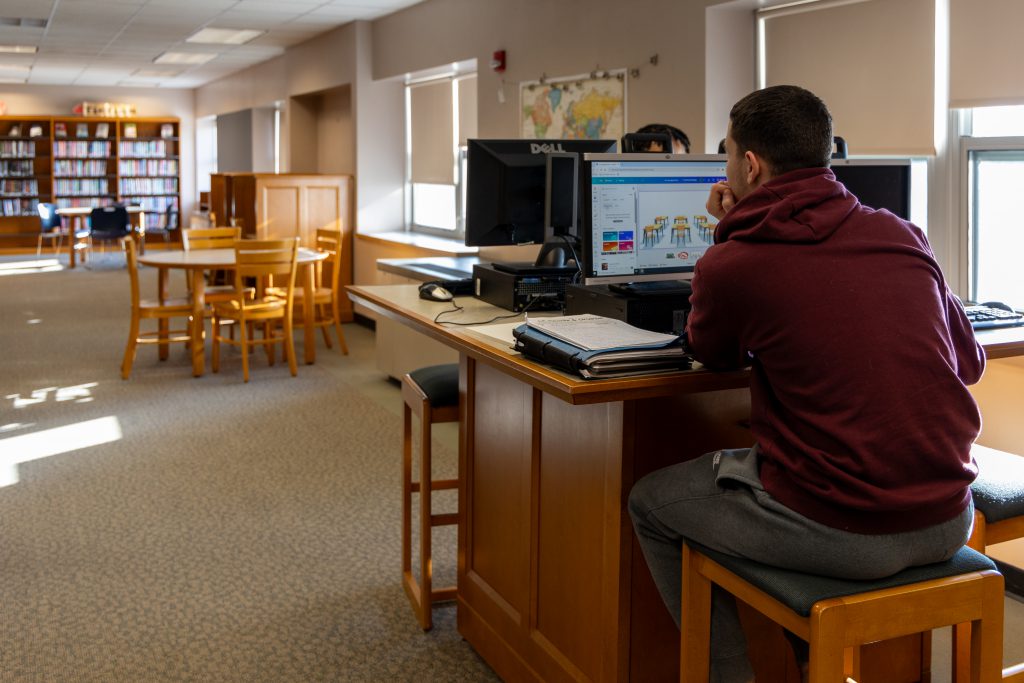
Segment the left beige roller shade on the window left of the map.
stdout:
[[452,81],[410,88],[413,182],[455,182]]

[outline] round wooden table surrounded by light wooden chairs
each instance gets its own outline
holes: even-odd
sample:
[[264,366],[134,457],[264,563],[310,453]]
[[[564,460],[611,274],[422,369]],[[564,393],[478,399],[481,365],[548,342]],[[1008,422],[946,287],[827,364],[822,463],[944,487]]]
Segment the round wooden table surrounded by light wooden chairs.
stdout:
[[[311,249],[299,248],[297,261],[302,284],[302,314],[303,314],[303,345],[306,365],[312,365],[316,360],[316,336],[314,334],[313,318],[315,311],[313,307],[313,268],[317,261],[327,258],[324,252]],[[159,254],[139,256],[139,263],[160,268],[158,279],[159,297],[163,301],[167,298],[167,271],[170,268],[181,268],[191,273],[191,297],[193,297],[193,332],[191,332],[191,354],[193,354],[193,375],[201,377],[204,372],[205,350],[203,346],[203,313],[206,305],[206,278],[207,270],[230,270],[234,267],[233,249],[197,249],[194,251],[166,251]],[[296,278],[298,281],[298,276]],[[161,349],[164,352],[164,349]]]

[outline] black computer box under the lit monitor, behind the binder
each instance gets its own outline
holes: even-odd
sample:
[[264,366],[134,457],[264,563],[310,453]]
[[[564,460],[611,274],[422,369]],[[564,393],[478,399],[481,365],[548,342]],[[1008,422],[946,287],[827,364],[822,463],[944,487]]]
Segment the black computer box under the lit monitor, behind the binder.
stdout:
[[565,314],[593,313],[624,321],[635,328],[683,334],[690,312],[688,291],[628,295],[608,285],[569,285],[565,288]]

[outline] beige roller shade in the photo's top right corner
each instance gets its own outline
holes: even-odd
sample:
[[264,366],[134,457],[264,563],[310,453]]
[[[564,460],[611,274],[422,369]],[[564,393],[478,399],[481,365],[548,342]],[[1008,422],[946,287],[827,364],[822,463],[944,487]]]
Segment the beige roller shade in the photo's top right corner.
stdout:
[[950,0],[950,106],[1024,104],[1021,27],[1021,0]]

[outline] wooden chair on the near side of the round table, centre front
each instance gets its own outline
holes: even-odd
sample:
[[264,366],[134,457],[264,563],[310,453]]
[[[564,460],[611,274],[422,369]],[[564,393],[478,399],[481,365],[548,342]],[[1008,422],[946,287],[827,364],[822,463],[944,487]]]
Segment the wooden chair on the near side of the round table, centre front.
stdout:
[[[221,342],[242,349],[242,376],[246,382],[249,381],[250,347],[263,345],[270,365],[273,365],[273,345],[282,342],[292,377],[298,373],[292,326],[282,325],[279,332],[278,327],[271,325],[276,321],[287,323],[292,319],[298,247],[298,238],[239,240],[234,243],[234,295],[228,301],[213,304],[213,358],[210,364],[213,372],[220,370]],[[245,285],[247,278],[255,279],[257,283],[253,297],[249,296],[250,289]],[[275,293],[270,294],[267,289],[273,282],[278,285]],[[239,339],[221,334],[221,323],[225,321],[239,324]],[[257,323],[263,324],[261,339],[257,339],[252,331],[252,324]]]

